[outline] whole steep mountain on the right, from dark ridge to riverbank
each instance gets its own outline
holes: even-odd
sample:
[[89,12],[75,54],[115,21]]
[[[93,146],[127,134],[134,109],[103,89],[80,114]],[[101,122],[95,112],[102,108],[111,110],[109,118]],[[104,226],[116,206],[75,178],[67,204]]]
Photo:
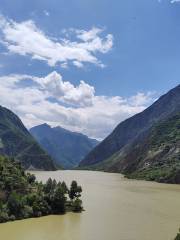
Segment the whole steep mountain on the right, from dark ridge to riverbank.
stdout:
[[179,113],[180,85],[143,112],[120,123],[82,160],[80,167],[180,182]]

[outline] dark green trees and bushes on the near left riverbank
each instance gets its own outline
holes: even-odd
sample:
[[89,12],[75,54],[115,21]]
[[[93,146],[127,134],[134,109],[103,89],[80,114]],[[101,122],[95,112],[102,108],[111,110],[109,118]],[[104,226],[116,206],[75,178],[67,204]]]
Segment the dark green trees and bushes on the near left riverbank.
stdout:
[[38,183],[19,162],[0,156],[0,222],[82,211],[81,192],[76,181],[70,189],[52,179]]

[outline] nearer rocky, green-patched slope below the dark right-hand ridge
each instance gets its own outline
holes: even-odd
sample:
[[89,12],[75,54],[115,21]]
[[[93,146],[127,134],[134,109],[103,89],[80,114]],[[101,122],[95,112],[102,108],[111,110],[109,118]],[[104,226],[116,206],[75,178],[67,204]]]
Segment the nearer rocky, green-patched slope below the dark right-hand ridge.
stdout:
[[121,172],[127,177],[180,183],[180,113],[154,124],[93,169]]

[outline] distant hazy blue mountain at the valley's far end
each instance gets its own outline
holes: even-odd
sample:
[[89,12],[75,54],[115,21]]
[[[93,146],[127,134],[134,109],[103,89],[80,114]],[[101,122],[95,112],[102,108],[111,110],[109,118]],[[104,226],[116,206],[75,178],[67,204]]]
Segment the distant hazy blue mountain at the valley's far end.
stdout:
[[42,124],[30,129],[30,133],[50,154],[57,164],[69,169],[77,166],[98,141],[87,136],[68,131],[62,127]]

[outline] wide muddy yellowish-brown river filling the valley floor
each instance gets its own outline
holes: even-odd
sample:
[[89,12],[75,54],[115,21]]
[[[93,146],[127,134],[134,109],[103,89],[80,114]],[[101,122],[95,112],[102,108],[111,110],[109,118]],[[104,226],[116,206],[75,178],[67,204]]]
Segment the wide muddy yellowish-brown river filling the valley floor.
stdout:
[[0,224],[1,240],[172,240],[180,227],[180,185],[92,171],[34,174],[77,180],[85,211]]

